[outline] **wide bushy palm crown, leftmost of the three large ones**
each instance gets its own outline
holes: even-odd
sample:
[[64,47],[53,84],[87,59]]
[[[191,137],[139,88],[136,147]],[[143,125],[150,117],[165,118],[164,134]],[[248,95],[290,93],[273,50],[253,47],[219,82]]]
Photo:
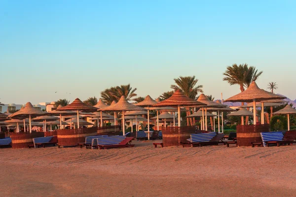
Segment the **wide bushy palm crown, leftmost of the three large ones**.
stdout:
[[137,94],[135,94],[136,90],[137,88],[132,89],[130,84],[120,85],[102,91],[101,97],[105,103],[110,105],[113,100],[117,102],[122,96],[125,96],[127,100],[131,100],[133,97],[137,96]]

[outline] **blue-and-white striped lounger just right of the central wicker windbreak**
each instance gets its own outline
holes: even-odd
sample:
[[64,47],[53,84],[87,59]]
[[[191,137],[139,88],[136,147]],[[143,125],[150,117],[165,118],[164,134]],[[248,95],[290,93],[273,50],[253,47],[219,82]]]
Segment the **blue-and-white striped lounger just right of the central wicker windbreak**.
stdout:
[[191,147],[203,145],[218,145],[219,141],[222,140],[222,138],[224,137],[224,134],[218,134],[218,137],[216,136],[216,132],[190,134],[190,138],[187,139],[187,142],[183,142],[181,144],[183,145],[183,147],[185,147],[185,145],[191,145]]

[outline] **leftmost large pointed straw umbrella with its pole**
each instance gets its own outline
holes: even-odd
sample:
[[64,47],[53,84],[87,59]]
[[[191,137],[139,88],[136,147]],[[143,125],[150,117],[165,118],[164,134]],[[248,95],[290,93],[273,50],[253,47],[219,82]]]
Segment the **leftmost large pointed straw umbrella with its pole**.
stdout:
[[31,102],[27,102],[25,107],[15,113],[13,113],[11,115],[11,118],[25,119],[25,118],[29,117],[30,133],[31,133],[32,132],[31,119],[34,117],[37,117],[37,116],[45,115],[45,114],[47,114],[47,113],[44,111],[41,111],[40,109],[33,107]]

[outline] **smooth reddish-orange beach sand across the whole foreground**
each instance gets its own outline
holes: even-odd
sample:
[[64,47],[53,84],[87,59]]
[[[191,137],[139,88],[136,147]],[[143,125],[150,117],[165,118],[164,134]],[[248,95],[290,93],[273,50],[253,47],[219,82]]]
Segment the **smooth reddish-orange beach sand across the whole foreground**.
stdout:
[[296,145],[0,149],[2,197],[295,197]]

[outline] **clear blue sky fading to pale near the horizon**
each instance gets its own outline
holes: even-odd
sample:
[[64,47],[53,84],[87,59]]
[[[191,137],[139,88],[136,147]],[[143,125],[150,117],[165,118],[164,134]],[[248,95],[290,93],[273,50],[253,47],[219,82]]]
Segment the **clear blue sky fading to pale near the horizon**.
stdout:
[[296,99],[295,7],[294,0],[1,0],[0,101],[83,100],[128,83],[156,98],[188,75],[205,94],[226,99],[239,92],[222,81],[234,63],[263,70],[260,88],[276,81],[277,93]]

